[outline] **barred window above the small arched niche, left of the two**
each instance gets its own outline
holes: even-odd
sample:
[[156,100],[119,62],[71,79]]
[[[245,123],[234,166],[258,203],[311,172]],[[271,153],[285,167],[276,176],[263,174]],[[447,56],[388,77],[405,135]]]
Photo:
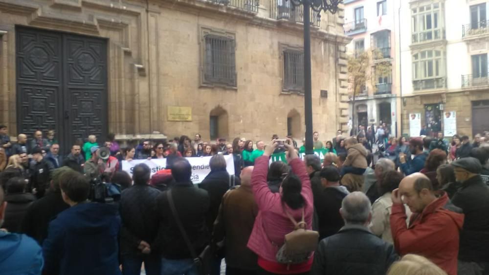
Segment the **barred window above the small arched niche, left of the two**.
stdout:
[[235,42],[233,38],[204,36],[204,84],[236,87]]

